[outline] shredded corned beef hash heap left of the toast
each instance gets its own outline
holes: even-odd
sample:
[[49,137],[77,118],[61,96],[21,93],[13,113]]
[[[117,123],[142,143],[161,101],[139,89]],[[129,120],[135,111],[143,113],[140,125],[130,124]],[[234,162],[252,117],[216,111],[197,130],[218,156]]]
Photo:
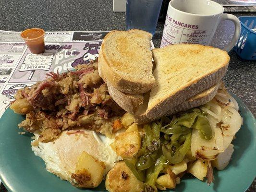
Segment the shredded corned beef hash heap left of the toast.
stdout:
[[78,65],[72,72],[49,72],[47,77],[15,95],[16,101],[25,99],[32,106],[19,127],[39,131],[41,142],[52,141],[63,130],[81,127],[111,133],[113,122],[124,114],[99,77],[97,60]]

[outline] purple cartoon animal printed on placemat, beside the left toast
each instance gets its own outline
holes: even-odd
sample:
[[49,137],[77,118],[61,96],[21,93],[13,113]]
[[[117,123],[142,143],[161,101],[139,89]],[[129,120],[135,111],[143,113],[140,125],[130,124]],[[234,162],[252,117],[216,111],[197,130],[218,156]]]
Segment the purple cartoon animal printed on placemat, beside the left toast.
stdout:
[[87,52],[80,58],[74,60],[74,62],[71,64],[72,67],[75,67],[79,64],[87,64],[91,60],[95,60],[98,57],[98,49],[101,46],[101,42],[99,44],[97,43],[86,43],[84,50],[88,49]]

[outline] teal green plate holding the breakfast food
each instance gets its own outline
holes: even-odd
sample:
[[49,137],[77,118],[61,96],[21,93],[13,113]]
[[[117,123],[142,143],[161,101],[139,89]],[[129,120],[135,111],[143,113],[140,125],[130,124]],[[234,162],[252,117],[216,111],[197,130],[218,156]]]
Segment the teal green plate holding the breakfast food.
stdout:
[[[256,176],[256,120],[244,103],[239,104],[244,124],[233,141],[232,161],[222,171],[214,170],[210,186],[188,175],[177,185],[176,192],[244,192]],[[31,150],[31,134],[20,135],[17,124],[24,116],[7,109],[0,119],[0,179],[12,192],[104,192],[105,183],[92,190],[74,188],[45,169],[44,161]]]

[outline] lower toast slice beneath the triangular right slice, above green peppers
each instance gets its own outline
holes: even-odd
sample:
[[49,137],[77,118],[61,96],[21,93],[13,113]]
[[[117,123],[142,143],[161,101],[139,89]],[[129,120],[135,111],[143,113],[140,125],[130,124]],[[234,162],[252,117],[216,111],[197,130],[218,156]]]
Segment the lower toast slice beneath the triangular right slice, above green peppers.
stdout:
[[[220,84],[221,83],[213,85],[209,89],[207,89],[207,90],[189,98],[188,100],[184,101],[182,104],[180,104],[180,105],[178,105],[174,108],[170,108],[165,114],[163,114],[163,116],[173,115],[175,113],[185,111],[185,110],[188,110],[188,109],[191,109],[191,108],[196,108],[198,106],[206,104],[207,102],[212,100],[213,97],[217,94],[217,91],[219,89]],[[145,124],[145,123],[148,123],[150,121],[158,119],[158,118],[156,118],[156,119],[150,120],[146,117],[146,107],[147,107],[146,106],[146,101],[148,101],[148,99],[149,99],[149,94],[147,94],[147,96],[145,95],[144,98],[145,98],[145,100],[144,100],[145,103],[143,103],[143,106],[141,106],[138,109],[137,113],[135,114],[136,115],[135,116],[135,123],[138,123],[138,124]]]

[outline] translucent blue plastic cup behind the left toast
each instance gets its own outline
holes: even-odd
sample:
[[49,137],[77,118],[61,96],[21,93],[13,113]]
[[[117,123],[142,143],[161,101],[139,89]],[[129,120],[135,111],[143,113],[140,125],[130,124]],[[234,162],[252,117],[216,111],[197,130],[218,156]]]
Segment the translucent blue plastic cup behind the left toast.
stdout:
[[155,34],[163,0],[126,0],[126,30],[141,29]]

